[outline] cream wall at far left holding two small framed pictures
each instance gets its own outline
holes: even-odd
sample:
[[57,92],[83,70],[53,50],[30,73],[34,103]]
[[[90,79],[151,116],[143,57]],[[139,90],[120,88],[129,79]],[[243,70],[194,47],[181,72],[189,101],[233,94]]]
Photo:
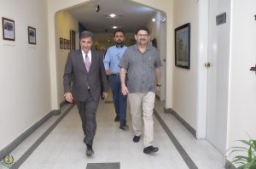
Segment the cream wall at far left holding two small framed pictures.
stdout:
[[[0,17],[15,20],[15,41],[0,35],[0,149],[51,109],[48,20],[45,1],[0,0]],[[28,44],[27,26],[36,28],[37,44]]]

